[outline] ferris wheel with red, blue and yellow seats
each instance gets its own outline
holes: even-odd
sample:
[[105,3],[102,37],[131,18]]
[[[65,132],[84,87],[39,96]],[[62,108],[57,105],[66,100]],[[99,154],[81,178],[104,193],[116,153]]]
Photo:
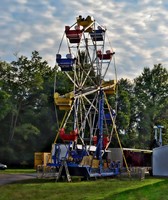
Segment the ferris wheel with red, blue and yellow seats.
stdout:
[[65,26],[56,62],[73,90],[61,95],[55,88],[55,105],[64,112],[55,143],[59,137],[71,151],[84,148],[84,154],[72,154],[76,164],[90,151],[102,162],[111,142],[117,89],[114,54],[107,29],[93,17],[79,16],[72,26]]

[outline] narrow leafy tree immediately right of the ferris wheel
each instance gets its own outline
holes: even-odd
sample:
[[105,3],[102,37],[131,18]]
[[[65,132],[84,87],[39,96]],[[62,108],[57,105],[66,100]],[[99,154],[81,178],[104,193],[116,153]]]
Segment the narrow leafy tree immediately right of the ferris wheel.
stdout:
[[135,147],[135,95],[134,84],[128,79],[118,82],[117,126],[120,139],[125,147]]

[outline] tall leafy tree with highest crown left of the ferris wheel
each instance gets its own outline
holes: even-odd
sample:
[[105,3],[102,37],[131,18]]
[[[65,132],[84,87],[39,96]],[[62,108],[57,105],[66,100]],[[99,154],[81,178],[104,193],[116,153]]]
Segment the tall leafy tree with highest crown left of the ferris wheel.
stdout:
[[47,66],[47,62],[41,62],[38,52],[32,53],[32,59],[21,56],[17,61],[11,63],[13,69],[12,102],[13,112],[11,119],[10,140],[13,139],[15,127],[18,122],[19,113],[26,110],[28,105],[38,109],[41,99],[39,93],[42,90],[42,74]]

